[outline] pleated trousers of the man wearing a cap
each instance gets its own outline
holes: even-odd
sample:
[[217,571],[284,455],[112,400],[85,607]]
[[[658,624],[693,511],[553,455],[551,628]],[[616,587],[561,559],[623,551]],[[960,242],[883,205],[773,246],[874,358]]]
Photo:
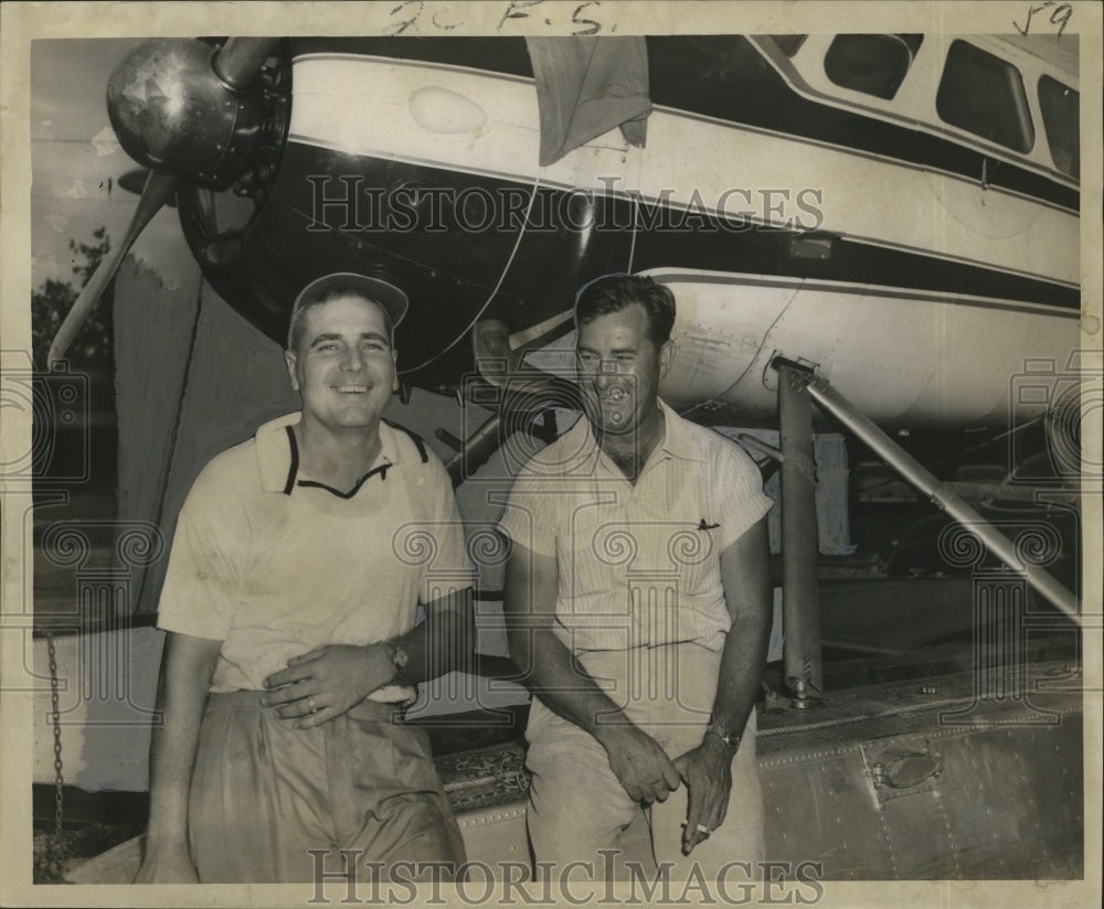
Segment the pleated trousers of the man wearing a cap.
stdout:
[[310,883],[319,867],[343,869],[338,849],[358,851],[365,880],[365,862],[464,863],[428,737],[392,723],[396,705],[364,701],[296,729],[262,694],[208,699],[188,806],[201,883]]

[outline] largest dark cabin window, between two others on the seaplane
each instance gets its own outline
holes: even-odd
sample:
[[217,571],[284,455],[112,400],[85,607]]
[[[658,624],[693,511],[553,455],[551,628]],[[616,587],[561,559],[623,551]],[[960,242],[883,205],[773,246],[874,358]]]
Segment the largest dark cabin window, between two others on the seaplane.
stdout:
[[969,42],[947,51],[935,109],[946,122],[1016,151],[1034,145],[1020,71]]

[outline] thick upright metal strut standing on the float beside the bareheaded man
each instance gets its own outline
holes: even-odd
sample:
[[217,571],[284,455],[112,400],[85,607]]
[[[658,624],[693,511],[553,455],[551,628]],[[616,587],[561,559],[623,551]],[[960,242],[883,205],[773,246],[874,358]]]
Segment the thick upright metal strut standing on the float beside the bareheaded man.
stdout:
[[824,692],[813,403],[807,388],[813,374],[782,359],[774,365],[782,448],[783,663],[793,705],[805,708]]

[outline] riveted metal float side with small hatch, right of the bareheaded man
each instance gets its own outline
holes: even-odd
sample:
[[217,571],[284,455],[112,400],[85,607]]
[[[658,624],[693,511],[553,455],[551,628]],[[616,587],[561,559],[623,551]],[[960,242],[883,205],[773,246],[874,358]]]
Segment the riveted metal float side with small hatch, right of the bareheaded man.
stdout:
[[766,855],[819,862],[825,880],[1080,877],[1080,695],[975,685],[962,673],[837,692],[802,723],[762,715]]

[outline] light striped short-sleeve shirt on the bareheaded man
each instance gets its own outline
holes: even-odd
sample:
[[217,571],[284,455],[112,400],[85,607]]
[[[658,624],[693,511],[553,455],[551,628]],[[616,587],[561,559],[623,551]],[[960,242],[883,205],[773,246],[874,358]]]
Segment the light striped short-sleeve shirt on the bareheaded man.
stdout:
[[754,461],[662,402],[665,436],[630,483],[581,418],[519,473],[499,530],[554,556],[554,628],[573,652],[693,641],[732,620],[720,556],[769,511]]

